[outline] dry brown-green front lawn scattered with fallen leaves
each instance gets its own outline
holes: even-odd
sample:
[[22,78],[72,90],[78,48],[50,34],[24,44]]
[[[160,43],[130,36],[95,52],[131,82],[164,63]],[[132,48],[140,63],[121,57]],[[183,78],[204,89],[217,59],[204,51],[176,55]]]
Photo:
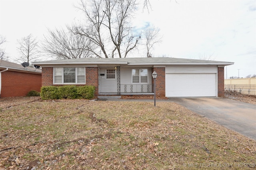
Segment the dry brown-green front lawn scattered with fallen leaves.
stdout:
[[0,169],[256,169],[256,141],[176,103],[0,100]]

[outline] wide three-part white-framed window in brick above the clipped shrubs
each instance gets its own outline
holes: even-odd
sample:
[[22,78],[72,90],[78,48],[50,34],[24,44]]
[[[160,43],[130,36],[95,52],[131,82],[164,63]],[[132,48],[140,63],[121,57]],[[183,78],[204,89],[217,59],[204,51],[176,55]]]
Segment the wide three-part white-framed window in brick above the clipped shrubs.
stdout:
[[85,84],[85,68],[55,67],[54,84]]

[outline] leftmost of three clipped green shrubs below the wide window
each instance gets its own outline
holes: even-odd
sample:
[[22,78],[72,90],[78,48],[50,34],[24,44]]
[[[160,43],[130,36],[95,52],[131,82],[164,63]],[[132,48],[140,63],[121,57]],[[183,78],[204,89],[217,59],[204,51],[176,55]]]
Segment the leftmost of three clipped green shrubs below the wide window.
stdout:
[[58,87],[57,86],[43,86],[43,87],[41,87],[40,96],[41,96],[42,100],[59,99]]

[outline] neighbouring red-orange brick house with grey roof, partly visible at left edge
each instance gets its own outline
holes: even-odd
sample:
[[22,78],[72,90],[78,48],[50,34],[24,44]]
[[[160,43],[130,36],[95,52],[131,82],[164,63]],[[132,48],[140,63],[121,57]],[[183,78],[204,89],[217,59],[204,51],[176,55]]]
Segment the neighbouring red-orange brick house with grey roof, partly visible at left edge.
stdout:
[[42,70],[0,60],[0,97],[26,96],[29,91],[40,92]]

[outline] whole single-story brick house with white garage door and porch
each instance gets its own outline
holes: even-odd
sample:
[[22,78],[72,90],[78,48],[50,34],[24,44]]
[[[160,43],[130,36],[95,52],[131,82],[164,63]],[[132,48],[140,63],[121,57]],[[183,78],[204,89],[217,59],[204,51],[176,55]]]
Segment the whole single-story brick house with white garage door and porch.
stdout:
[[231,62],[178,58],[84,58],[40,61],[42,86],[93,85],[95,96],[224,97],[224,66]]

